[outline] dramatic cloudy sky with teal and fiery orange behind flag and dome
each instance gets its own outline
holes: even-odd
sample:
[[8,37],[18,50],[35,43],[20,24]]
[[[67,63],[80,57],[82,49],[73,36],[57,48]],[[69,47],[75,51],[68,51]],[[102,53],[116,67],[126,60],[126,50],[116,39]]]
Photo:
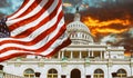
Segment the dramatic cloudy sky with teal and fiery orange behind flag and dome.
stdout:
[[[1,0],[0,18],[17,11],[22,1]],[[133,49],[133,0],[63,0],[66,23],[76,7],[96,42],[124,46],[126,52]]]

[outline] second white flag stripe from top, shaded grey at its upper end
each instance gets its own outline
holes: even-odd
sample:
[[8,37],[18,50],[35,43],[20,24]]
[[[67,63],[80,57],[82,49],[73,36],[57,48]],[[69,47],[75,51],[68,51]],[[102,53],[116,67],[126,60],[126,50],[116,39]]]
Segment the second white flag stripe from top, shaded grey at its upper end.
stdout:
[[41,6],[47,4],[47,2],[48,2],[48,0],[42,0],[41,3],[38,4],[38,7],[34,8],[34,9],[33,9],[31,12],[29,12],[27,16],[21,17],[21,18],[18,18],[18,19],[13,19],[13,20],[7,21],[7,26],[10,27],[11,25],[13,25],[13,23],[16,23],[16,22],[19,22],[19,21],[21,21],[21,20],[24,20],[24,19],[27,19],[27,18],[30,18],[30,17],[37,14],[40,10],[42,10],[42,7],[41,7]]

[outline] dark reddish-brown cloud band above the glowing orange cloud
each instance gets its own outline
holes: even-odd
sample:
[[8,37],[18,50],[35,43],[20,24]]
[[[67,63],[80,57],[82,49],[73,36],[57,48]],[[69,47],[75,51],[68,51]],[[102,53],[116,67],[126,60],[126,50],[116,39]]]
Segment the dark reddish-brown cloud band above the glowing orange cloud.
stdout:
[[82,11],[82,14],[91,16],[93,18],[98,18],[100,20],[109,20],[109,19],[131,19],[133,20],[133,1],[125,1],[109,3],[104,2],[102,8],[89,8],[88,10]]

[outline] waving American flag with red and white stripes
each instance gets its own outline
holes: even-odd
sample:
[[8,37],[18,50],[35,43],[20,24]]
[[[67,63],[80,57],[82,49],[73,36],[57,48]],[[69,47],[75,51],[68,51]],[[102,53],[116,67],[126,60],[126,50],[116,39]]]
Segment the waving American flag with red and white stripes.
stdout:
[[0,38],[0,62],[23,55],[51,57],[71,43],[62,0],[24,0],[17,12],[0,22],[4,37]]

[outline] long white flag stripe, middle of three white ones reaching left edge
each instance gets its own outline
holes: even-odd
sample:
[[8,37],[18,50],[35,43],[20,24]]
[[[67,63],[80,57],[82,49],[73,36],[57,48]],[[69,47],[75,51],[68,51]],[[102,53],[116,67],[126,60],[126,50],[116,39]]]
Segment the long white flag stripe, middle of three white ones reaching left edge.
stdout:
[[[62,19],[62,21],[63,21],[63,19]],[[60,28],[64,25],[64,23],[62,23],[62,21],[61,21],[61,23],[58,25],[59,27],[52,32],[52,36],[57,36],[57,33],[59,32]],[[49,41],[51,39],[49,39]],[[25,39],[25,40],[28,40],[28,39]],[[45,41],[47,41],[47,38],[44,38],[43,40],[40,40],[40,42],[38,42],[38,43],[33,45],[33,46],[22,46],[22,45],[19,45],[19,43],[6,43],[6,45],[2,45],[0,47],[0,50],[4,49],[4,48],[8,48],[8,47],[18,47],[18,48],[23,48],[23,49],[29,49],[29,50],[30,49],[31,50],[35,50],[35,49],[39,49],[42,46],[44,46],[47,43]]]

